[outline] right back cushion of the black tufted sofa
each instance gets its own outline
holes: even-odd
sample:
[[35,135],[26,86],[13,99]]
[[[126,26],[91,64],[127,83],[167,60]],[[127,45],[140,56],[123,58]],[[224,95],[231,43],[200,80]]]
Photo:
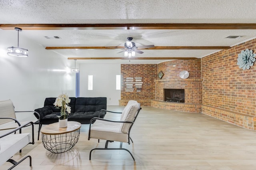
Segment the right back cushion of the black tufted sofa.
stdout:
[[76,98],[75,113],[77,112],[95,112],[101,109],[107,109],[106,97],[78,97]]

